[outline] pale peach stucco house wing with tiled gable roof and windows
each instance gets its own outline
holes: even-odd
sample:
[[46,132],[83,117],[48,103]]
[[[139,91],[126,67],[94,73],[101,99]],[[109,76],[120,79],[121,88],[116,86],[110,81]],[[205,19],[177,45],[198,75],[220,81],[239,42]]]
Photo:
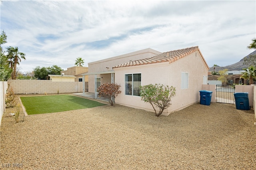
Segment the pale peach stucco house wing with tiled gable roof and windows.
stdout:
[[[150,49],[150,51],[154,50]],[[137,57],[131,59],[129,56],[127,55],[127,58],[124,57],[122,60],[128,61],[117,62],[112,67],[113,69],[108,71],[112,75],[111,82],[121,85],[122,93],[115,100],[117,104],[154,112],[149,103],[141,100],[139,91],[140,85],[150,83],[176,88],[176,96],[172,98],[172,105],[164,111],[163,115],[168,115],[200,101],[199,91],[202,90],[203,84],[207,84],[209,67],[198,46],[164,53],[155,51],[148,57],[138,54]],[[102,64],[101,67],[109,67],[100,61],[98,63]],[[97,66],[94,65],[94,67]],[[90,74],[90,64],[88,64],[88,70]],[[104,71],[98,73],[103,75]],[[97,84],[95,82],[101,81],[96,72],[92,75],[94,78],[90,79],[89,77],[89,92],[94,92]],[[103,76],[102,79],[104,79]],[[91,85],[90,81],[95,85]],[[108,81],[110,82],[109,77]]]

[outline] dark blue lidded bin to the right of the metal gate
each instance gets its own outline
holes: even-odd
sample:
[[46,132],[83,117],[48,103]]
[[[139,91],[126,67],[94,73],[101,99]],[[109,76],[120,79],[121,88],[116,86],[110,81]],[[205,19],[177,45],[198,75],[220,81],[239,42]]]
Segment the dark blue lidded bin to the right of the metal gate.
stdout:
[[238,110],[250,110],[248,92],[234,93],[236,101],[236,109]]

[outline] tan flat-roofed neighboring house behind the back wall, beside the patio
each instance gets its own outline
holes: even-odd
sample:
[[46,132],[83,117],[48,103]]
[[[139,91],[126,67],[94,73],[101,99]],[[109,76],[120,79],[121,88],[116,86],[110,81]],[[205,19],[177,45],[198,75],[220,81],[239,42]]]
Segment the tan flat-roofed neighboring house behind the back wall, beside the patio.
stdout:
[[[69,67],[67,70],[60,71],[60,74],[64,73],[65,75],[74,75],[76,76],[75,81],[83,81],[82,73],[86,72],[88,72],[88,67],[74,66]],[[84,79],[85,82],[88,82],[88,76],[85,76]]]

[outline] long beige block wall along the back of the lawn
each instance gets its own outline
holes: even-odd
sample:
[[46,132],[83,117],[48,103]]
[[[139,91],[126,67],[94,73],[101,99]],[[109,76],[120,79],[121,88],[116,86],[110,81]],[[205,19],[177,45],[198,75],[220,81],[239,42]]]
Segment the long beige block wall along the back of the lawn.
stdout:
[[50,80],[8,80],[16,94],[54,94],[83,92],[83,82]]

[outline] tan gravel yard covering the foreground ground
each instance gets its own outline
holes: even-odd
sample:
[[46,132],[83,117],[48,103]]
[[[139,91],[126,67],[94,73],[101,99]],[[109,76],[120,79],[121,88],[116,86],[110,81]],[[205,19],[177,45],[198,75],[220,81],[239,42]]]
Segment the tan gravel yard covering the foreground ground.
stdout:
[[[253,170],[254,111],[196,103],[169,116],[122,105],[26,116],[6,109],[1,169]],[[21,168],[12,166],[22,165]],[[6,167],[7,166],[7,167]]]

